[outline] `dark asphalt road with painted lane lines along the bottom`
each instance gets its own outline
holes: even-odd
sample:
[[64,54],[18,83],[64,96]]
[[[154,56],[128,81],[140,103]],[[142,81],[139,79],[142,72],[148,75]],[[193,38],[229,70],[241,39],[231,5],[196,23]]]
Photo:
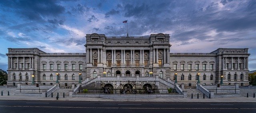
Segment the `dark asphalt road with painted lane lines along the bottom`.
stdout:
[[256,103],[0,100],[0,113],[256,113]]

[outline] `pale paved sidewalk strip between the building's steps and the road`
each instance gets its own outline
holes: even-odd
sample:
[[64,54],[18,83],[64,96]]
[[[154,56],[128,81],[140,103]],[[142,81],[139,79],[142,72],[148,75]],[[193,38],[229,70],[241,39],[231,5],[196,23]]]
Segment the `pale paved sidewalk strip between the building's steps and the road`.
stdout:
[[[0,95],[0,100],[52,100],[56,101],[56,97],[30,97],[20,95]],[[190,99],[190,98],[154,98],[154,99],[103,99],[103,98],[86,98],[86,97],[59,97],[58,101],[154,101],[154,102],[256,102],[253,97],[230,97],[230,98],[214,98],[214,99]]]

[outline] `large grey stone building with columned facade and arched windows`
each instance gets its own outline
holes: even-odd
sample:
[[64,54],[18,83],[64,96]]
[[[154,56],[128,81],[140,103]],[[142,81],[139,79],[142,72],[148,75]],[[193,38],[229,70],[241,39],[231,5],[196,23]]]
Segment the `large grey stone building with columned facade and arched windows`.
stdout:
[[129,77],[150,79],[150,76],[159,76],[173,82],[174,73],[177,73],[177,82],[186,87],[195,86],[198,79],[201,84],[220,84],[222,75],[224,84],[249,84],[248,48],[219,48],[211,53],[170,53],[169,39],[168,34],[162,33],[149,37],[106,37],[93,33],[86,35],[86,53],[45,53],[37,48],[8,48],[7,84],[31,84],[32,75],[36,84],[55,84],[58,79],[62,87],[78,84],[79,79],[93,80],[98,75],[105,78],[126,76],[125,81],[129,81]]

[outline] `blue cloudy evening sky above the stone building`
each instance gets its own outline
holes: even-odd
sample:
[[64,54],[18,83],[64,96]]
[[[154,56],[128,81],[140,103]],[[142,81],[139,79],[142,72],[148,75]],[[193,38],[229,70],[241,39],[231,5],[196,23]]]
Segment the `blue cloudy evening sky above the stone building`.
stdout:
[[129,36],[170,34],[172,53],[249,48],[256,70],[256,0],[0,0],[0,7],[3,70],[7,48],[84,53],[86,34],[126,36],[127,24]]

